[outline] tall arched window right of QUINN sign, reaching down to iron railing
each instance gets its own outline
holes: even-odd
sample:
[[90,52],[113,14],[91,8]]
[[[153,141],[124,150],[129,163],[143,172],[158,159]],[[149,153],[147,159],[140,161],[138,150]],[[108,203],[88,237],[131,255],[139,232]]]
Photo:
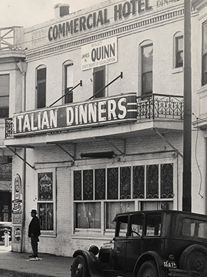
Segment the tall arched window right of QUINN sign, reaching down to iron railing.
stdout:
[[153,45],[152,41],[141,44],[141,95],[152,93]]

